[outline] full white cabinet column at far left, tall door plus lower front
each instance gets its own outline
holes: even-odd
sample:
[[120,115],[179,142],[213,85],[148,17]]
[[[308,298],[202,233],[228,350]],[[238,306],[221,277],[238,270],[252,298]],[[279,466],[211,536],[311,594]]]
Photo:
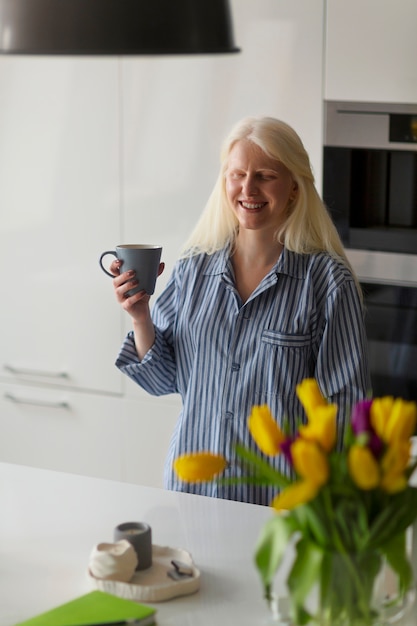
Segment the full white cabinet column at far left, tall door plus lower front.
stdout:
[[118,75],[0,61],[0,459],[121,479],[122,312],[98,265],[120,237]]

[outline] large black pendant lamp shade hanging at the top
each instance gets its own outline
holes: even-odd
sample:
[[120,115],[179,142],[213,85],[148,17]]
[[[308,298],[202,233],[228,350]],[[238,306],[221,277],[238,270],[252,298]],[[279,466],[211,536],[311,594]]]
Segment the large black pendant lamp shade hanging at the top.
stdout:
[[228,0],[0,0],[0,54],[238,51]]

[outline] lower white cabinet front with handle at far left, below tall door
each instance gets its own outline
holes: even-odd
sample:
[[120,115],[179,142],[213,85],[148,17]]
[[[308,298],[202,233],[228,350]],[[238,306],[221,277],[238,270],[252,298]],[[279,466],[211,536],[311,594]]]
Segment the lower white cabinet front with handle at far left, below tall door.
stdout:
[[0,384],[0,461],[121,480],[119,398]]

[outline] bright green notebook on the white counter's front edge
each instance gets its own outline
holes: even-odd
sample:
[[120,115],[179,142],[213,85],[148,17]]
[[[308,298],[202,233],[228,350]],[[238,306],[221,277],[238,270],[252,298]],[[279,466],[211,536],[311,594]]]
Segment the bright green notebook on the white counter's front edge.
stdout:
[[134,624],[148,626],[155,624],[155,613],[156,609],[150,606],[104,591],[91,591],[15,626],[91,626],[129,623],[130,620],[134,620]]

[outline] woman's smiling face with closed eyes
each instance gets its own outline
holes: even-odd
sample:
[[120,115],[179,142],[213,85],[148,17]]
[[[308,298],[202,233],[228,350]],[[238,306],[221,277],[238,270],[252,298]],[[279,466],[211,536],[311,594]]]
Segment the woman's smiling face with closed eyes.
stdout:
[[239,229],[275,233],[287,217],[297,184],[290,171],[246,139],[230,151],[226,169],[226,195]]

